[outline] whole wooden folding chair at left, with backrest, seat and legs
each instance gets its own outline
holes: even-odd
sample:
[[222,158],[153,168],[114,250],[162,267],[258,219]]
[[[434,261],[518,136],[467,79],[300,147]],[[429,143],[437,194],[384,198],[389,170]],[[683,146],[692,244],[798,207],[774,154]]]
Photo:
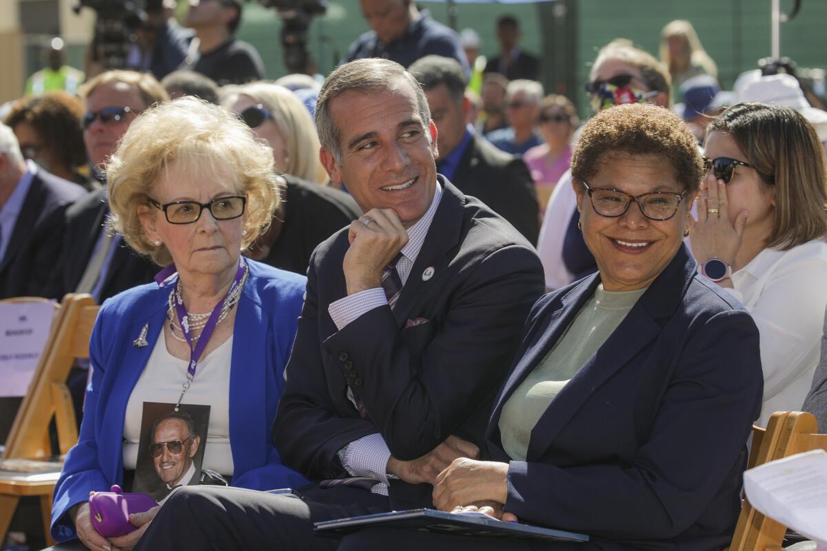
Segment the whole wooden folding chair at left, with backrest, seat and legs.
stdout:
[[[68,294],[52,324],[49,341],[41,355],[29,392],[17,411],[6,440],[3,461],[44,460],[52,455],[49,425],[57,427],[60,454],[66,454],[78,441],[78,426],[66,378],[76,359],[89,357],[89,338],[98,306],[90,295]],[[17,461],[32,468],[33,462]],[[12,467],[13,468],[13,467]],[[37,469],[32,468],[32,471]],[[48,470],[48,469],[47,469]],[[5,539],[17,503],[22,496],[40,496],[43,530],[48,544],[50,536],[51,496],[60,477],[60,463],[49,472],[0,473],[0,541]]]

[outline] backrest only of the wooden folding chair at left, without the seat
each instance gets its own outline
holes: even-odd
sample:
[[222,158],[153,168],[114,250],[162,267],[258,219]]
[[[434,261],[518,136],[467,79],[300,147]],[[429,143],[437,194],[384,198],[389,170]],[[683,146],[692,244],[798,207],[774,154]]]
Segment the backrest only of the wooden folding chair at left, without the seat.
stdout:
[[89,338],[98,308],[90,295],[64,297],[29,392],[9,432],[3,458],[49,457],[52,417],[57,426],[60,454],[77,443],[78,426],[65,382],[74,361],[89,357]]

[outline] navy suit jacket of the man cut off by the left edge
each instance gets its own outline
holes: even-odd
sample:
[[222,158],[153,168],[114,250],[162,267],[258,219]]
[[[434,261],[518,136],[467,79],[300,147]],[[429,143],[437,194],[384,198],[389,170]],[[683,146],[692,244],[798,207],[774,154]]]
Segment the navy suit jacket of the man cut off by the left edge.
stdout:
[[0,259],[0,299],[48,296],[47,283],[63,242],[64,212],[84,195],[79,185],[37,169]]

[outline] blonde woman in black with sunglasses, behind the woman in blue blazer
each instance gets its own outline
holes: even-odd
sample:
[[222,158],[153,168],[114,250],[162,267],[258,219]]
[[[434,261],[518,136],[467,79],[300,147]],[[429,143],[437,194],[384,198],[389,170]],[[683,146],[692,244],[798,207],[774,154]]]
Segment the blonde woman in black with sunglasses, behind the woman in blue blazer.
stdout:
[[270,145],[284,190],[285,200],[270,230],[248,254],[271,266],[306,273],[316,245],[356,220],[361,211],[347,193],[327,187],[316,127],[294,93],[277,84],[252,83],[231,88],[222,103]]

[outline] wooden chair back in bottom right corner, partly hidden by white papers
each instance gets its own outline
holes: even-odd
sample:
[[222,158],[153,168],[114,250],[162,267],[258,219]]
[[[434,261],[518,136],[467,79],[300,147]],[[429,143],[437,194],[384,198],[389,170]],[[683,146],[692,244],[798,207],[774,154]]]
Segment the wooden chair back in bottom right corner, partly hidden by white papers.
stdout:
[[[753,426],[748,468],[810,449],[827,450],[827,435],[818,434],[815,416],[805,411],[776,411],[766,430]],[[786,526],[762,515],[745,499],[729,551],[782,549],[785,533]]]

